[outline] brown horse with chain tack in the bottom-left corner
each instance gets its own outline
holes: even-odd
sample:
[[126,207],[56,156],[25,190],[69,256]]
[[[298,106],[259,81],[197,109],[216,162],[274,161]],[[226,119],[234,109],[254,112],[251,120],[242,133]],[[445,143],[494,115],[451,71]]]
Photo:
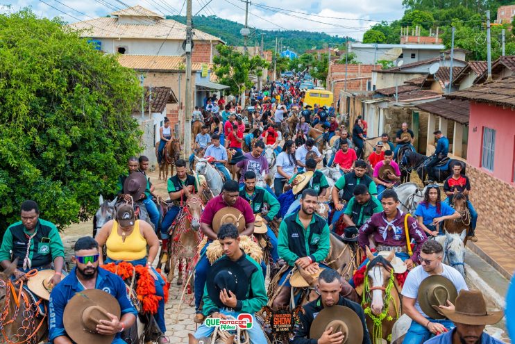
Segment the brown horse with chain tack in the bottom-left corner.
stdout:
[[40,302],[33,302],[25,290],[20,290],[18,282],[11,281],[17,263],[18,259],[15,259],[0,272],[0,309],[3,309],[0,316],[3,340],[0,343],[40,343],[48,335],[47,316],[38,316]]

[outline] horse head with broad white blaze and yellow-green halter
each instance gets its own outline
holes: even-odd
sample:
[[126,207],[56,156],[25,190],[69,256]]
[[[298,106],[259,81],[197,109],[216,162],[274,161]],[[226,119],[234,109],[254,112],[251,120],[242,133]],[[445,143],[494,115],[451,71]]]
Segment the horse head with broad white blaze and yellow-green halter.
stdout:
[[367,288],[364,290],[366,293],[372,293],[371,298],[371,311],[375,316],[380,315],[382,309],[388,306],[385,302],[389,290],[393,284],[392,274],[394,268],[391,266],[391,260],[394,259],[395,252],[392,251],[386,258],[383,256],[373,256],[369,247],[366,247],[366,256],[369,259],[369,265],[366,268],[365,279],[367,281]]

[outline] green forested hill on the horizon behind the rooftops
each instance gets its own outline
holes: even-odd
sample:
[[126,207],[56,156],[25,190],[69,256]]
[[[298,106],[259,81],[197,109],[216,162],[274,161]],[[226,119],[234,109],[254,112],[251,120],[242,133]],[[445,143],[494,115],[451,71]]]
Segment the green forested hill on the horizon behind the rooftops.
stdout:
[[[177,22],[186,23],[186,17],[171,15],[167,19],[174,19]],[[242,46],[243,36],[239,31],[244,27],[243,24],[233,22],[232,20],[222,19],[214,15],[206,17],[204,15],[196,16],[193,18],[193,27],[210,33],[221,38],[229,45]],[[297,54],[303,54],[304,51],[309,49],[322,49],[324,43],[328,44],[345,44],[345,37],[338,37],[337,35],[328,35],[327,33],[298,31],[298,30],[260,30],[251,28],[251,35],[248,39],[248,45],[254,46],[261,44],[261,34],[264,33],[264,49],[273,50],[276,46],[276,38],[282,38],[282,45],[288,46]],[[352,40],[349,38],[349,40]]]

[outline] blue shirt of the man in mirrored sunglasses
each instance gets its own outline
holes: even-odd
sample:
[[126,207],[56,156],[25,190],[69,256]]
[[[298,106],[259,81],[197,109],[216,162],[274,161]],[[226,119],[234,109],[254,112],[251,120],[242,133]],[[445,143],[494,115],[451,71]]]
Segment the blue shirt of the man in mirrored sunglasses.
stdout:
[[[137,311],[130,302],[124,280],[121,277],[99,268],[95,288],[110,293],[118,300],[121,316],[126,313],[137,316]],[[49,300],[49,339],[51,342],[58,336],[66,336],[65,325],[62,322],[65,306],[71,297],[83,289],[77,279],[76,268],[71,270],[70,274],[52,289]],[[120,338],[120,334],[116,334],[115,340],[117,338]]]

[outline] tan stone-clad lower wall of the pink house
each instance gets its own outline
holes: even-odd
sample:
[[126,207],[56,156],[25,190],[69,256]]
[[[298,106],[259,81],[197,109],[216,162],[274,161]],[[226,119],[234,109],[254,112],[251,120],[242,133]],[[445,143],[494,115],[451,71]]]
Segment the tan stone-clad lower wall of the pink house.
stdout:
[[478,225],[506,242],[513,242],[515,187],[468,164],[466,174],[471,181],[470,199],[478,211]]

